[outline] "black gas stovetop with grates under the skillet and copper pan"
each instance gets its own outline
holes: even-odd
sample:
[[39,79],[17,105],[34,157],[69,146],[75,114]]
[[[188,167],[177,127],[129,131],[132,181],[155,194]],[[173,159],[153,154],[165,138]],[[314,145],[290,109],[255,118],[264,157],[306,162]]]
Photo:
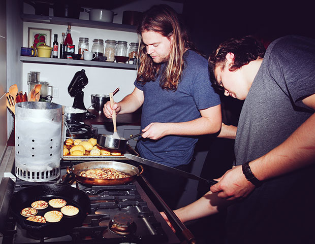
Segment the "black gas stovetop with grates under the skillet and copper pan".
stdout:
[[[61,163],[61,176],[65,175],[68,163],[72,162]],[[11,179],[3,178],[2,186],[8,188],[5,189],[6,192],[14,193],[36,184],[60,183],[64,178],[38,183],[16,179],[15,184],[10,183]],[[182,236],[176,235],[160,215],[161,210],[158,208],[161,205],[151,196],[156,193],[148,191],[151,186],[141,175],[137,181],[128,185],[87,186],[78,182],[68,184],[86,193],[91,202],[90,211],[81,226],[74,227],[69,233],[61,236],[40,236],[38,233],[21,228],[13,214],[9,212],[2,243],[175,244],[182,243],[180,239],[184,239]],[[5,202],[1,206],[8,206],[9,197],[5,198],[7,200],[4,199]],[[158,195],[157,198],[159,198]],[[3,210],[0,211],[3,212]],[[0,222],[2,221],[0,220]]]

